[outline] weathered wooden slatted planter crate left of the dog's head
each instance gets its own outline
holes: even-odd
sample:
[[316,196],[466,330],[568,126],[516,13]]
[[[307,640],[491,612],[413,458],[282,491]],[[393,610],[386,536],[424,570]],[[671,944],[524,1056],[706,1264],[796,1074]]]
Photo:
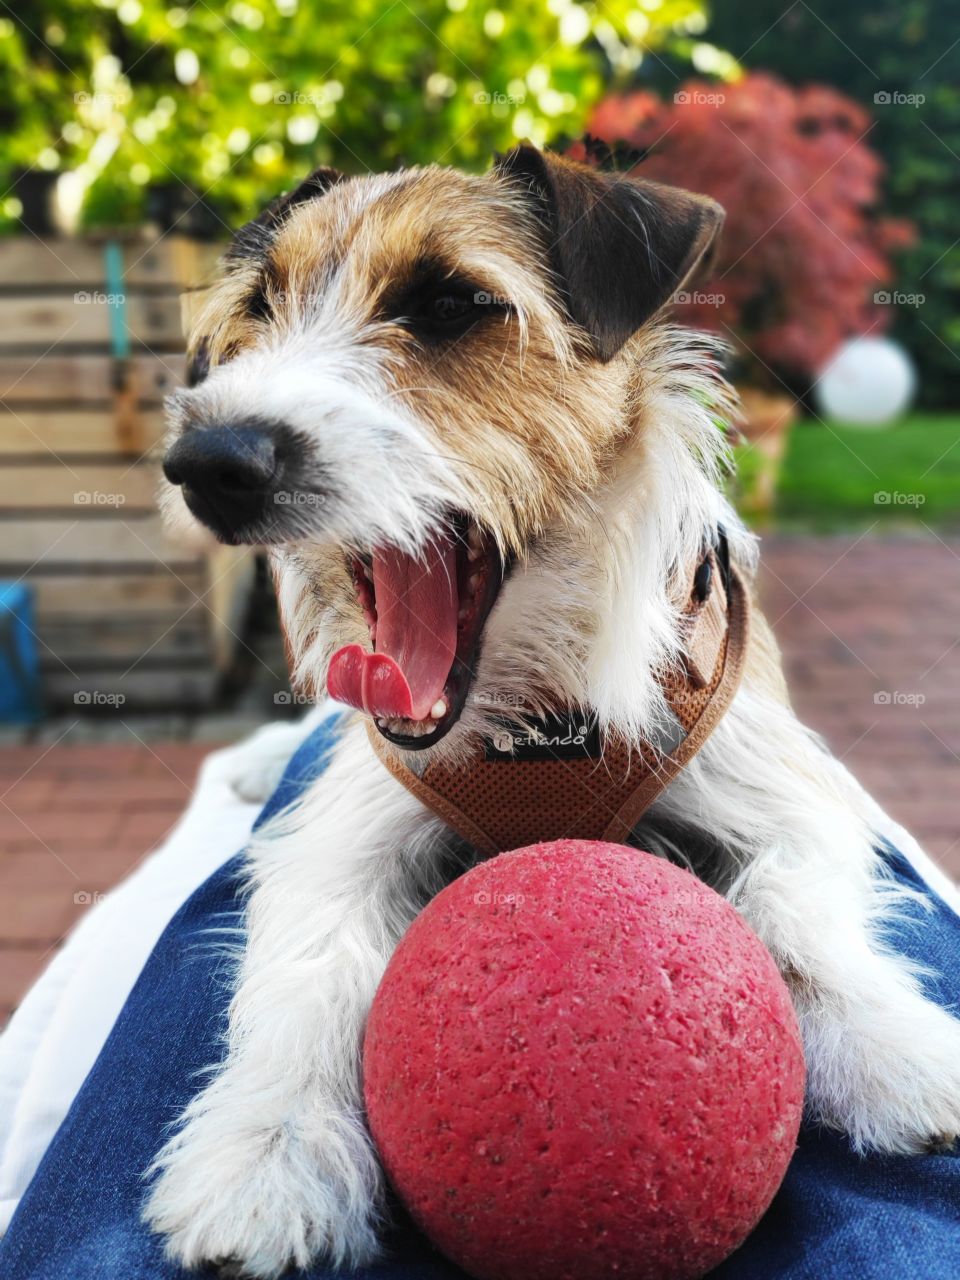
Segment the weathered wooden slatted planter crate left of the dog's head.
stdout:
[[51,708],[209,705],[238,643],[252,558],[178,547],[156,513],[179,294],[216,252],[125,239],[118,291],[102,241],[0,239],[0,580],[33,589]]

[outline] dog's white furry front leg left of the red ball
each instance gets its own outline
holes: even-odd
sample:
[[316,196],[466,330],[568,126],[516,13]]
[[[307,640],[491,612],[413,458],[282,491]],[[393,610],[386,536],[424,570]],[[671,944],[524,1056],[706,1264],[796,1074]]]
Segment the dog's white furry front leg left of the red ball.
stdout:
[[332,785],[250,850],[228,1066],[157,1157],[147,1208],[186,1266],[239,1258],[271,1276],[321,1252],[334,1263],[376,1253],[381,1175],[358,1029],[398,938],[454,864],[439,823],[369,755],[355,723]]

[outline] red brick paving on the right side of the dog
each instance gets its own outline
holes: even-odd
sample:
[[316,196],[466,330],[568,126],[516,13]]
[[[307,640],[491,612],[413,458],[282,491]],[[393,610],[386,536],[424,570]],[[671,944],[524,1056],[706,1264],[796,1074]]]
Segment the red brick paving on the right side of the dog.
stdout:
[[769,539],[763,564],[799,716],[960,878],[960,540]]

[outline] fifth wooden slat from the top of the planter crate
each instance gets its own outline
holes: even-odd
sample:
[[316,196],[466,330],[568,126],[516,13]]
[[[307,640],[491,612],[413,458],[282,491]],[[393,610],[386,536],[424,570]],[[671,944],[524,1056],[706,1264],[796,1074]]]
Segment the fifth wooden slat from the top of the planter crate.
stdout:
[[154,511],[160,470],[154,463],[58,462],[0,467],[0,518],[12,513],[60,508],[64,515],[102,518]]

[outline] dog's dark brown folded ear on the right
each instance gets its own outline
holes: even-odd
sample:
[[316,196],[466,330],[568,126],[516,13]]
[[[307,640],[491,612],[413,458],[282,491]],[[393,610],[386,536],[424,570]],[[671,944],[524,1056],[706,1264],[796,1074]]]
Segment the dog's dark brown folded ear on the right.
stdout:
[[602,173],[527,142],[498,156],[494,173],[524,191],[570,316],[604,362],[690,279],[723,224],[708,196]]

